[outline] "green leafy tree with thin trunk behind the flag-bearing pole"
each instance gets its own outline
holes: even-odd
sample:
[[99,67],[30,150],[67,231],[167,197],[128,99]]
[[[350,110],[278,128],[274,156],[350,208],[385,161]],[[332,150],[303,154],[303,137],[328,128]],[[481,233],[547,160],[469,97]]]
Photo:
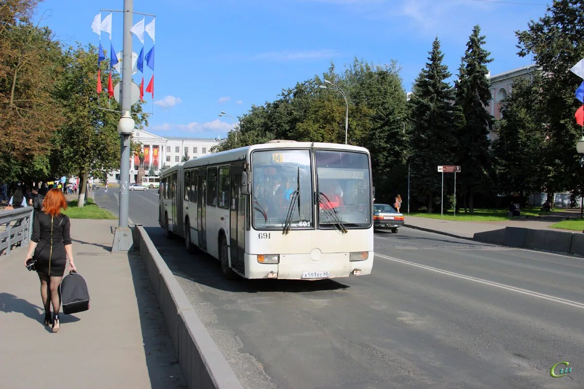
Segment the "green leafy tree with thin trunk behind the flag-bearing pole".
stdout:
[[[117,132],[120,113],[100,109],[119,110],[120,106],[116,101],[108,101],[107,93],[98,95],[96,92],[97,64],[96,47],[70,47],[64,55],[65,72],[57,93],[65,120],[55,139],[55,171],[59,175],[82,178],[79,206],[84,205],[88,178],[103,177],[120,165],[120,135]],[[103,61],[102,66],[107,66],[107,61]],[[119,75],[114,74],[113,81],[114,84],[119,82]],[[105,82],[104,78],[102,83]],[[135,104],[132,111],[140,112],[141,104]],[[144,114],[134,114],[133,118],[137,128],[147,124]]]

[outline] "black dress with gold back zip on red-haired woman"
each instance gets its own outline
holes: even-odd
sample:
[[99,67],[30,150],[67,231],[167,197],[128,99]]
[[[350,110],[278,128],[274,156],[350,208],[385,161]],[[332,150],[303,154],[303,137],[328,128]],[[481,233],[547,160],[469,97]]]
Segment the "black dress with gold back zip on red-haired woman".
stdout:
[[[51,239],[51,215],[44,212],[34,212],[33,234],[31,240],[37,243],[34,249],[36,271],[52,277],[62,277],[67,264],[65,245],[71,244],[71,222],[66,215],[55,215],[53,218],[53,236]],[[52,250],[51,250],[52,241]]]

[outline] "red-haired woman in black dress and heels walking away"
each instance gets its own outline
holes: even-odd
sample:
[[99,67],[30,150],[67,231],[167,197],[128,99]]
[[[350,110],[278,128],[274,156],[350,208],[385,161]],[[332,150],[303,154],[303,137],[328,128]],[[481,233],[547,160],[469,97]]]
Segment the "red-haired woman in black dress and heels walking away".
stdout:
[[[53,332],[58,332],[60,329],[61,300],[58,296],[58,287],[65,272],[67,257],[69,271],[75,270],[69,235],[71,223],[66,215],[62,215],[62,209],[67,209],[63,192],[59,189],[51,189],[44,198],[42,212],[34,212],[33,234],[25,259],[25,266],[31,258],[36,261],[34,267],[40,279],[40,295],[45,312],[44,324],[52,325]],[[53,304],[52,319],[51,303]]]

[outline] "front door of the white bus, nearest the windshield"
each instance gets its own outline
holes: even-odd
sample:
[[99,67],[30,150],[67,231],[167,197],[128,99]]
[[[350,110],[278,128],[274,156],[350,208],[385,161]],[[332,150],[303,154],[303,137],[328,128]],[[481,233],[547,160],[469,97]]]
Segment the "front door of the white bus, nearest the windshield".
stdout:
[[241,173],[244,165],[230,168],[231,204],[230,204],[230,248],[231,267],[245,275],[245,197],[241,194]]

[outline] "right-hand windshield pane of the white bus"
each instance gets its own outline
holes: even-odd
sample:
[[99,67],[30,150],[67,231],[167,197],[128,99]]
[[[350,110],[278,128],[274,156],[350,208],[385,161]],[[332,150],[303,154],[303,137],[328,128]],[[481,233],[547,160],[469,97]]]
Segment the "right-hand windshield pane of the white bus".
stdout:
[[316,150],[316,162],[319,226],[369,227],[369,157],[357,152]]

